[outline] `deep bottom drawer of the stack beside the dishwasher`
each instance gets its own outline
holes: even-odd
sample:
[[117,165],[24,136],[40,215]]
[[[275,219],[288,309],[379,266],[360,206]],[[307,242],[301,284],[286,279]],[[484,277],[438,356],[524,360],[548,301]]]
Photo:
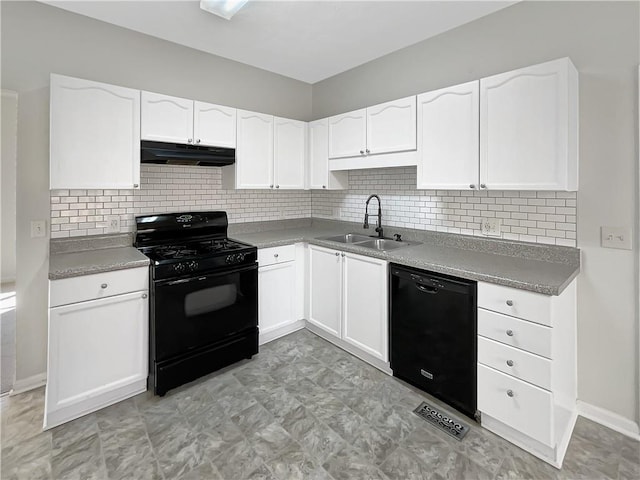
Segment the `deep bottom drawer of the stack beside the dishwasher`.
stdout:
[[478,410],[553,446],[553,397],[546,390],[478,365]]

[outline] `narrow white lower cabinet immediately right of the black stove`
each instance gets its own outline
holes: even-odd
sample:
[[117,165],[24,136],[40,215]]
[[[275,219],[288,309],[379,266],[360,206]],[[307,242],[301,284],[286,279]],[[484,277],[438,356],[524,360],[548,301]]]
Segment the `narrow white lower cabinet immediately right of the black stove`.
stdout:
[[258,250],[260,344],[304,326],[304,281],[299,278],[303,251],[302,244]]

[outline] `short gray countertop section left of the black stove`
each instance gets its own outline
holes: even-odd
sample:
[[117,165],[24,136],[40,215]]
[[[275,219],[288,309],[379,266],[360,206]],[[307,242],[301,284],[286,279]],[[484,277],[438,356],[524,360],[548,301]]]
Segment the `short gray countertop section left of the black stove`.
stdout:
[[149,265],[149,258],[131,246],[130,236],[117,240],[116,236],[96,236],[73,242],[52,241],[49,280]]

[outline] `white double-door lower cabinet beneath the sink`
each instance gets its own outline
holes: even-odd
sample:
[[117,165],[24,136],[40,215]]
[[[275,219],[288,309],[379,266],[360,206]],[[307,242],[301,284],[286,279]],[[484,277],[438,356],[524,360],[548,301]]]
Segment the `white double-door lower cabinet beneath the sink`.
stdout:
[[387,362],[387,262],[309,246],[309,322]]

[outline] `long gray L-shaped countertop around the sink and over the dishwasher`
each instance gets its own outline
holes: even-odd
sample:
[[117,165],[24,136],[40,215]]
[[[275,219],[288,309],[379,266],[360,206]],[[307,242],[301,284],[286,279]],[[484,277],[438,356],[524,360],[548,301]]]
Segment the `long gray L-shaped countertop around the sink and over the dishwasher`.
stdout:
[[[359,247],[357,244],[319,239],[347,232],[365,235],[373,233],[372,230],[354,228],[357,227],[355,224],[342,223],[344,222],[316,222],[314,219],[310,226],[255,233],[234,232],[229,236],[258,248],[308,242],[312,245],[381,258],[400,265],[546,295],[562,293],[580,272],[579,250],[570,247],[522,244],[475,237],[454,239],[454,236],[449,234],[421,234],[393,227],[385,228],[386,235],[403,231],[403,237],[410,236],[407,240],[423,243],[390,252],[380,252]],[[452,240],[446,240],[447,235]]]

